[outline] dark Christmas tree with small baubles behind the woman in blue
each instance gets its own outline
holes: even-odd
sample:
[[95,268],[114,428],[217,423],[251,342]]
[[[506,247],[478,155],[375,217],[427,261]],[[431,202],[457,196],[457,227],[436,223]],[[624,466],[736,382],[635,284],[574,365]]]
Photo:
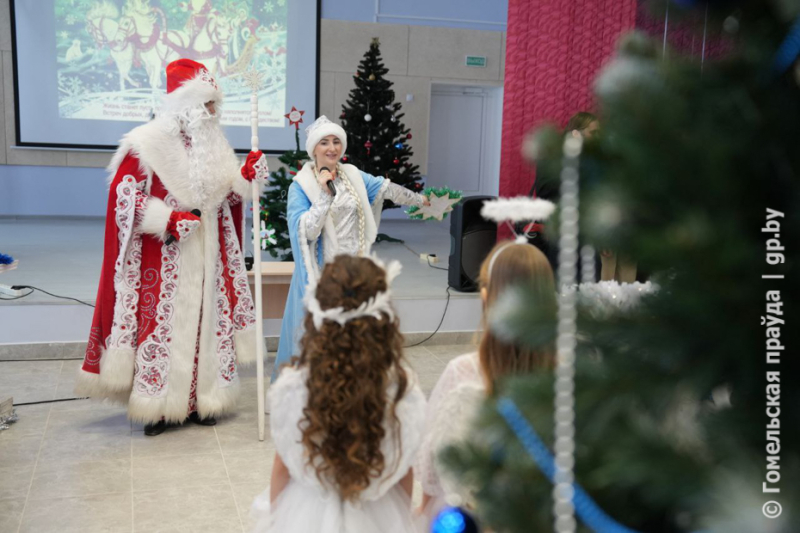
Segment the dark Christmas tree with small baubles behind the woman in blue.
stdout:
[[339,117],[347,132],[347,154],[342,161],[420,192],[419,167],[410,162],[414,155],[408,144],[411,132],[401,122],[402,106],[395,102],[392,82],[384,77],[388,72],[375,38],[353,76],[356,87]]

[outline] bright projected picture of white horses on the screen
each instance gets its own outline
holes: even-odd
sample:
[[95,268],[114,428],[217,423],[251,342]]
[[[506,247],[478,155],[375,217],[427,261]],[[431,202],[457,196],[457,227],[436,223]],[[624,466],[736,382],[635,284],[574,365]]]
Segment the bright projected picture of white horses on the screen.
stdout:
[[249,124],[250,94],[239,75],[253,66],[265,78],[259,121],[282,125],[286,18],[286,0],[267,2],[258,12],[248,2],[231,0],[165,0],[158,5],[150,0],[58,0],[59,114],[148,120],[164,93],[167,63],[188,57],[205,64],[226,94],[223,124]]

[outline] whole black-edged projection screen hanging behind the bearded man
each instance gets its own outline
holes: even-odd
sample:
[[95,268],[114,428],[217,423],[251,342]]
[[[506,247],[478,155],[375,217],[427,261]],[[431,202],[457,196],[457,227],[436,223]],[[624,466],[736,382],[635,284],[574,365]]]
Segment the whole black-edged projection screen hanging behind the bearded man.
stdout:
[[181,57],[216,77],[238,150],[250,142],[248,68],[265,80],[263,150],[295,148],[292,107],[317,115],[319,0],[12,0],[11,13],[19,146],[114,148],[151,118]]

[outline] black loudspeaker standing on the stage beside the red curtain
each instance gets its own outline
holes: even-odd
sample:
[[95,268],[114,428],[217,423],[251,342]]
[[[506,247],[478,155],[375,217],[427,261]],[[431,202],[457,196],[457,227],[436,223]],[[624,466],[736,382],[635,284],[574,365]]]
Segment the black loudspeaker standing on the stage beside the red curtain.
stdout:
[[497,224],[481,216],[494,196],[468,196],[450,213],[450,265],[447,284],[457,291],[478,290],[481,264],[497,242]]

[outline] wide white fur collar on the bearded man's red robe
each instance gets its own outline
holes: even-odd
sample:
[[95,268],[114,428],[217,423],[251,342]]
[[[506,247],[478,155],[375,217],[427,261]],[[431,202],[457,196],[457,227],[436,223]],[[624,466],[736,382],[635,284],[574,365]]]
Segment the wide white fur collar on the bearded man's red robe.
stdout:
[[[168,119],[162,117],[134,128],[122,138],[108,166],[112,178],[128,153],[133,153],[139,158],[140,169],[148,179],[148,190],[149,182],[153,174],[156,174],[164,187],[186,210],[216,208],[228,196],[234,180],[237,179],[235,172],[230,172],[233,175],[224,176],[219,185],[213,191],[209,191],[206,205],[202,205],[202,200],[190,187],[189,157],[183,139],[179,133],[170,131]],[[238,168],[238,160],[233,150],[231,150],[231,168]]]

